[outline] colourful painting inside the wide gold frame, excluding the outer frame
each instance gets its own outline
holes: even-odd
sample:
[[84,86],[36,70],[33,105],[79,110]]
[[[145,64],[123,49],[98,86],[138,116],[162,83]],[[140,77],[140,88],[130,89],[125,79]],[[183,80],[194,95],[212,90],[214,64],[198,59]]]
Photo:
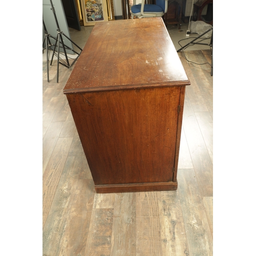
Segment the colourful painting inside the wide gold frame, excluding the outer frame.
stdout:
[[102,0],[84,0],[87,22],[99,22],[104,20]]

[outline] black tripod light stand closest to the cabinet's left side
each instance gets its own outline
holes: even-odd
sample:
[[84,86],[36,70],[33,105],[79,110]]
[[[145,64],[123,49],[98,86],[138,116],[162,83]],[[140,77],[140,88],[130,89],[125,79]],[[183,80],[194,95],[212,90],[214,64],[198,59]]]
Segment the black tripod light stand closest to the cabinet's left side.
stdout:
[[[52,11],[53,11],[53,15],[54,15],[54,18],[55,18],[55,22],[56,22],[56,25],[57,25],[57,37],[56,37],[55,46],[54,46],[54,50],[53,50],[53,54],[52,54],[51,65],[52,65],[52,61],[53,61],[54,55],[57,56],[57,82],[58,82],[58,80],[59,80],[59,63],[61,65],[65,66],[68,69],[71,68],[74,65],[75,61],[80,56],[80,54],[82,52],[82,49],[78,45],[76,45],[75,42],[73,42],[67,35],[65,35],[62,31],[60,31],[58,20],[57,20],[56,13],[55,13],[55,9],[54,9],[53,4],[52,4],[52,0],[50,0],[50,2],[51,2],[51,6],[52,6]],[[71,49],[70,47],[65,45],[64,42],[63,42],[62,35],[65,36],[68,40],[70,40],[79,50],[81,50],[80,53],[74,51],[73,49]],[[56,46],[58,46],[57,47],[57,54],[55,52]],[[59,48],[63,49],[64,55],[65,55],[65,58],[66,58],[66,62],[59,57]],[[77,54],[77,57],[74,59],[74,61],[71,64],[69,63],[69,57],[67,55],[66,49]]]

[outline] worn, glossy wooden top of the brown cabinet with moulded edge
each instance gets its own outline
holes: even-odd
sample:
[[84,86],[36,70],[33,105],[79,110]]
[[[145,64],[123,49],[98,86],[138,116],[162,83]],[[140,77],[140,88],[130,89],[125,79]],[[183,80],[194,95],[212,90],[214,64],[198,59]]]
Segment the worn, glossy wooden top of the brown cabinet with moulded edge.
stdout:
[[125,19],[96,23],[63,93],[189,84],[162,18]]

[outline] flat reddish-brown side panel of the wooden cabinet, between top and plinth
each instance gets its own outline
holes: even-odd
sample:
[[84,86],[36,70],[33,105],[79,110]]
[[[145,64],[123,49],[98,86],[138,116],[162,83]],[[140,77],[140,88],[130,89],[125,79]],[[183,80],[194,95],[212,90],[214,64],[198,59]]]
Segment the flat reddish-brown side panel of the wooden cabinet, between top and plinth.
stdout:
[[173,182],[180,88],[67,94],[95,185]]

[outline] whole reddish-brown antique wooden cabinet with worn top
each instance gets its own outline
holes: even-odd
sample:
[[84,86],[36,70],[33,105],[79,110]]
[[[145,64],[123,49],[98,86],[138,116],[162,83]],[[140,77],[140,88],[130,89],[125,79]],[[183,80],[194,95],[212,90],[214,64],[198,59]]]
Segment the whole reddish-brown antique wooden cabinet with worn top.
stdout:
[[97,193],[177,189],[189,84],[162,18],[95,25],[63,92]]

